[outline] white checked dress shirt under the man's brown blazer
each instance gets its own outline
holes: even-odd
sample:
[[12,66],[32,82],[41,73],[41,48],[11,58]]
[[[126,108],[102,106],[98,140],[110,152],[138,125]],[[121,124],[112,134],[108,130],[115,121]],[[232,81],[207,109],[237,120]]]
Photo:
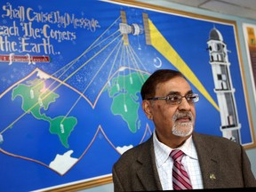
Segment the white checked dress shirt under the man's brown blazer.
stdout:
[[[160,142],[156,137],[156,131],[153,133],[154,150],[156,155],[156,167],[160,177],[163,190],[172,190],[172,157],[169,156],[173,148],[169,148]],[[190,178],[192,188],[203,188],[202,173],[200,170],[196,148],[192,136],[180,146],[184,156],[181,163],[184,165]]]

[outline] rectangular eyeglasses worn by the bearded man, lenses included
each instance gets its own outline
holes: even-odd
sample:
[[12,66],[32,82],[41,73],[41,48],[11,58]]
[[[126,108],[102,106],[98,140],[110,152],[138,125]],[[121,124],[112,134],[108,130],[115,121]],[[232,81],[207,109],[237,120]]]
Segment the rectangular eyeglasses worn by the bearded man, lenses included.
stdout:
[[188,93],[185,96],[181,96],[180,94],[171,94],[166,97],[148,98],[147,100],[166,100],[167,104],[179,105],[182,101],[182,98],[185,98],[189,104],[192,104],[199,100],[199,95],[196,93]]

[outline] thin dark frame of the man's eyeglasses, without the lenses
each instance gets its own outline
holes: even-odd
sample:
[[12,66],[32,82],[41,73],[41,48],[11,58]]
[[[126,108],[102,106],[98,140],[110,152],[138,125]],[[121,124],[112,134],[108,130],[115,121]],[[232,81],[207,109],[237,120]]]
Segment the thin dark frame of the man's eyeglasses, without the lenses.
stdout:
[[[193,95],[193,97],[191,97],[193,99],[188,100],[188,96],[190,96],[190,95]],[[172,101],[170,101],[170,98],[172,99],[173,97],[180,97],[180,100],[175,103],[172,103]],[[180,103],[182,102],[182,98],[185,98],[189,104],[192,104],[192,103],[196,103],[199,101],[199,94],[197,94],[196,92],[189,92],[188,94],[182,96],[180,94],[175,93],[175,94],[167,95],[166,97],[152,97],[152,98],[148,98],[146,100],[165,100],[167,104],[180,105]],[[168,100],[169,100],[169,102],[168,102]]]

